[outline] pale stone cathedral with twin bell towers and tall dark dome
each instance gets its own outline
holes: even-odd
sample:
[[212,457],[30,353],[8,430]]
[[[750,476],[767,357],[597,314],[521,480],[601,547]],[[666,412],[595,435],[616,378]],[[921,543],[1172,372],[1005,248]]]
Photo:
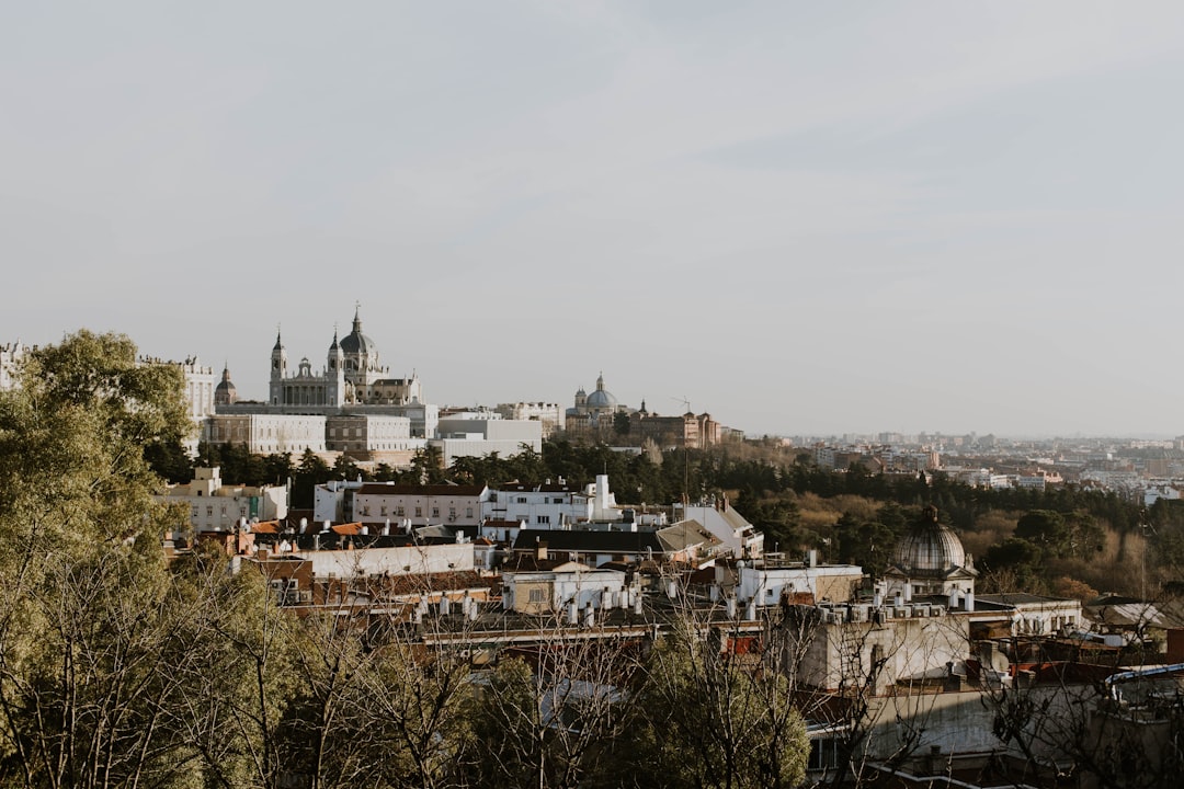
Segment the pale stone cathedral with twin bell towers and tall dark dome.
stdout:
[[313,371],[305,356],[295,373],[288,369],[288,350],[279,335],[271,349],[271,384],[268,403],[271,406],[311,406],[340,408],[342,406],[407,406],[423,402],[419,376],[387,377],[390,368],[382,367],[378,345],[362,334],[359,310],[354,311],[353,331],[340,342],[333,332],[333,343],[324,369]]

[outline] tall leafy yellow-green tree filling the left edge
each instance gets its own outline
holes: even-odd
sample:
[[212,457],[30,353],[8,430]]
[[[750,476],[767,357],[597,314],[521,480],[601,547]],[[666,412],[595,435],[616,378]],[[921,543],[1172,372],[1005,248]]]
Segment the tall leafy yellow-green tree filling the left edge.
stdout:
[[144,447],[188,428],[180,371],[121,335],[34,350],[0,394],[0,757],[25,785],[167,783],[187,763],[163,725],[169,519]]

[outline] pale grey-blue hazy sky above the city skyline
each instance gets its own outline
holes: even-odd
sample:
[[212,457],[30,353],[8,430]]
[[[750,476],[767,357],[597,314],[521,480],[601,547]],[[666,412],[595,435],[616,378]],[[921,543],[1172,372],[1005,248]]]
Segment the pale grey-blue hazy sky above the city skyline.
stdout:
[[1184,434],[1184,4],[0,7],[0,343]]

